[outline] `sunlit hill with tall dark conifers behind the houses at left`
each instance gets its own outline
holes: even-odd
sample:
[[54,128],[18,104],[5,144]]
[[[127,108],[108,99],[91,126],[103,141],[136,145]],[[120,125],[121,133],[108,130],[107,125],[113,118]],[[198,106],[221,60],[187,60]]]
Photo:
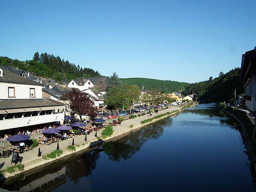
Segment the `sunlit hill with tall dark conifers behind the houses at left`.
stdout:
[[8,57],[0,57],[0,65],[18,67],[21,70],[34,72],[36,76],[49,77],[61,82],[65,79],[70,81],[77,77],[97,77],[101,76],[98,71],[90,68],[76,66],[69,61],[64,61],[59,56],[49,55],[46,52],[39,55],[38,52],[33,56],[33,60],[19,61]]

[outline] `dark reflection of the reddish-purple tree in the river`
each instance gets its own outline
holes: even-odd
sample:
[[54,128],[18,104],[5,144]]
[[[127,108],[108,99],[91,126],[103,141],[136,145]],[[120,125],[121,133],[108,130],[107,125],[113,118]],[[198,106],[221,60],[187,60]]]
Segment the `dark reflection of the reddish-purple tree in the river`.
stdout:
[[90,151],[76,158],[66,167],[66,176],[74,182],[79,183],[81,177],[91,175],[96,168],[96,160],[100,157],[99,151]]

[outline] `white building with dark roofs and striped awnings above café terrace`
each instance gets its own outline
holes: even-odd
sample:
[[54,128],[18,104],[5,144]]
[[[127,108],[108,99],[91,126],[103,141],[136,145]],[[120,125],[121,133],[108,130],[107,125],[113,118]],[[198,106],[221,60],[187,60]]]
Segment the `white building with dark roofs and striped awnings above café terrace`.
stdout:
[[63,123],[64,104],[42,98],[42,84],[0,68],[0,137]]

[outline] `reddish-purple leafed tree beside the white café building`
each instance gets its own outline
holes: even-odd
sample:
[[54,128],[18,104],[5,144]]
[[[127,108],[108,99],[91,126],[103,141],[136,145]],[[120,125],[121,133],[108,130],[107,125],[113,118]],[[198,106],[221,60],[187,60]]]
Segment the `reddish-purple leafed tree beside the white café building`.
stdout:
[[66,105],[80,116],[80,121],[83,115],[97,116],[94,102],[76,88],[72,88],[69,93],[61,96],[61,100],[66,101]]

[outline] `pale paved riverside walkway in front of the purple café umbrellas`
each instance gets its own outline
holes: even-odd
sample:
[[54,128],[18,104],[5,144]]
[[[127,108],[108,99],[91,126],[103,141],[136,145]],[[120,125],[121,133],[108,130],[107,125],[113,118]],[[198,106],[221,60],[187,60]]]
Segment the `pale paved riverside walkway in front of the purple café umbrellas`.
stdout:
[[[166,110],[163,110],[163,111],[158,111],[158,113],[153,113],[152,116],[149,116],[149,114],[146,114],[144,116],[137,116],[134,119],[125,120],[125,121],[122,122],[121,125],[113,126],[114,133],[116,132],[116,134],[119,134],[119,133],[122,132],[122,129],[127,129],[127,128],[130,129],[130,125],[139,124],[144,119],[149,119],[149,118],[152,118],[154,116],[164,114],[164,113],[167,113],[167,112],[176,111],[176,110],[180,111],[181,108],[172,106],[172,107],[169,107],[169,109],[166,109]],[[33,165],[34,167],[41,166],[41,164],[35,165],[37,160],[39,161],[39,160],[42,159],[42,157],[38,157],[39,148],[40,148],[40,151],[41,151],[41,156],[49,154],[50,152],[56,150],[57,144],[59,145],[59,149],[67,150],[67,146],[72,145],[73,140],[74,140],[75,145],[83,145],[84,148],[88,148],[87,146],[90,147],[91,143],[97,143],[96,141],[98,141],[98,140],[95,137],[95,134],[96,134],[96,132],[93,131],[92,133],[87,135],[87,141],[85,141],[85,135],[80,135],[80,136],[77,136],[77,137],[73,137],[73,138],[69,138],[67,140],[60,141],[58,143],[53,143],[51,145],[38,145],[38,147],[34,148],[33,150],[23,152],[23,154],[20,154],[21,164],[23,164],[23,165],[25,164],[24,170],[26,170],[25,169],[26,164],[33,164],[34,163],[34,165]],[[97,136],[98,137],[100,137],[101,134],[102,134],[102,130],[97,131]],[[14,166],[15,164],[14,163],[11,164],[11,161],[12,161],[12,155],[10,157],[6,158],[6,159],[1,158],[0,159],[0,170],[4,170],[9,166]]]

